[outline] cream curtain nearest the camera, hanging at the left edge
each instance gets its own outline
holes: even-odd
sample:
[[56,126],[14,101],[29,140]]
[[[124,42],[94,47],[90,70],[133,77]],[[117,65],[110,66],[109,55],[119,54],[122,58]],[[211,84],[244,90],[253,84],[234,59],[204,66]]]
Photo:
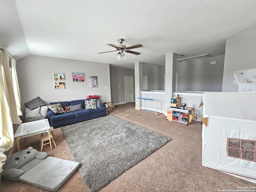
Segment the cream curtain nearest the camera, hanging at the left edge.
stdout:
[[[0,66],[0,162],[6,160],[5,151],[12,148],[14,143],[13,124],[20,124],[12,76],[10,72],[9,55],[6,49],[2,51]],[[2,166],[0,163],[0,172]]]

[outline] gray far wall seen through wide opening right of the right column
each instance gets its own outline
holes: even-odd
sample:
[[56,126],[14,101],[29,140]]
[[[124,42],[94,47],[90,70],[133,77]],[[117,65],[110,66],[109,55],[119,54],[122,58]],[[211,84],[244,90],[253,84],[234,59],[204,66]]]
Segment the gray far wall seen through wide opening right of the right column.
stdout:
[[[177,62],[178,90],[222,91],[225,55]],[[216,64],[210,64],[216,61]]]

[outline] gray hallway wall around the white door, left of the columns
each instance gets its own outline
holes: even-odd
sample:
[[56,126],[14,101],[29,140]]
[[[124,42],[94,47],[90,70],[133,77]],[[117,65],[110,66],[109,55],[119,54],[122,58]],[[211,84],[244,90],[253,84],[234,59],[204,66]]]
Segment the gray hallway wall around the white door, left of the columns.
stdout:
[[[111,84],[112,104],[124,104],[125,103],[124,76],[133,77],[133,84],[134,84],[134,82],[135,82],[134,69],[110,67],[110,84]],[[133,85],[133,88],[135,88],[135,85]],[[135,90],[134,90],[133,98],[135,98]]]

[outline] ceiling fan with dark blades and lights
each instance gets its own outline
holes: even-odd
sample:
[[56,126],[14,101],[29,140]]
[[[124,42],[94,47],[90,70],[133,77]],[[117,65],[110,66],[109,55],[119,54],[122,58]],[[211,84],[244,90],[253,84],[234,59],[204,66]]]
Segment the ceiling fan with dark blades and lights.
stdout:
[[[107,45],[116,48],[116,50],[114,50],[114,51],[119,51],[118,54],[116,55],[116,58],[118,58],[119,60],[127,58],[127,55],[124,52],[131,53],[131,54],[136,54],[136,55],[141,54],[139,52],[135,52],[135,51],[131,51],[130,50],[130,49],[134,49],[134,48],[138,48],[138,47],[143,47],[141,44],[137,44],[137,45],[134,45],[134,46],[126,47],[125,45],[122,45],[124,39],[120,38],[120,39],[118,39],[118,41],[119,41],[120,45],[117,45],[117,46],[113,45],[113,44],[107,44]],[[108,53],[108,52],[113,52],[113,51],[100,52],[98,54]]]

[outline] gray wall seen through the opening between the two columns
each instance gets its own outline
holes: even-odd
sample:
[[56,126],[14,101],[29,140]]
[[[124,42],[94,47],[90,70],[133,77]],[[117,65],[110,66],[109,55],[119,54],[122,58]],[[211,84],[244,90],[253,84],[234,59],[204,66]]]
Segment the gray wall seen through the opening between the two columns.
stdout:
[[148,90],[164,90],[165,66],[143,65],[143,76],[148,77]]

